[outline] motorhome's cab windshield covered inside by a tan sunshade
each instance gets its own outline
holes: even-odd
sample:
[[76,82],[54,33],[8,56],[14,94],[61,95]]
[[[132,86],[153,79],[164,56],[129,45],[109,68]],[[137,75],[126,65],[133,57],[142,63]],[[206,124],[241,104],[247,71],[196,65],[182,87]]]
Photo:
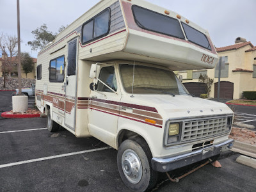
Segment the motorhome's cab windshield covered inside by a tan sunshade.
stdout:
[[[134,72],[134,77],[133,77]],[[127,93],[150,93],[168,95],[189,94],[183,84],[170,70],[142,65],[120,65],[124,89]],[[134,78],[134,80],[133,80]]]

